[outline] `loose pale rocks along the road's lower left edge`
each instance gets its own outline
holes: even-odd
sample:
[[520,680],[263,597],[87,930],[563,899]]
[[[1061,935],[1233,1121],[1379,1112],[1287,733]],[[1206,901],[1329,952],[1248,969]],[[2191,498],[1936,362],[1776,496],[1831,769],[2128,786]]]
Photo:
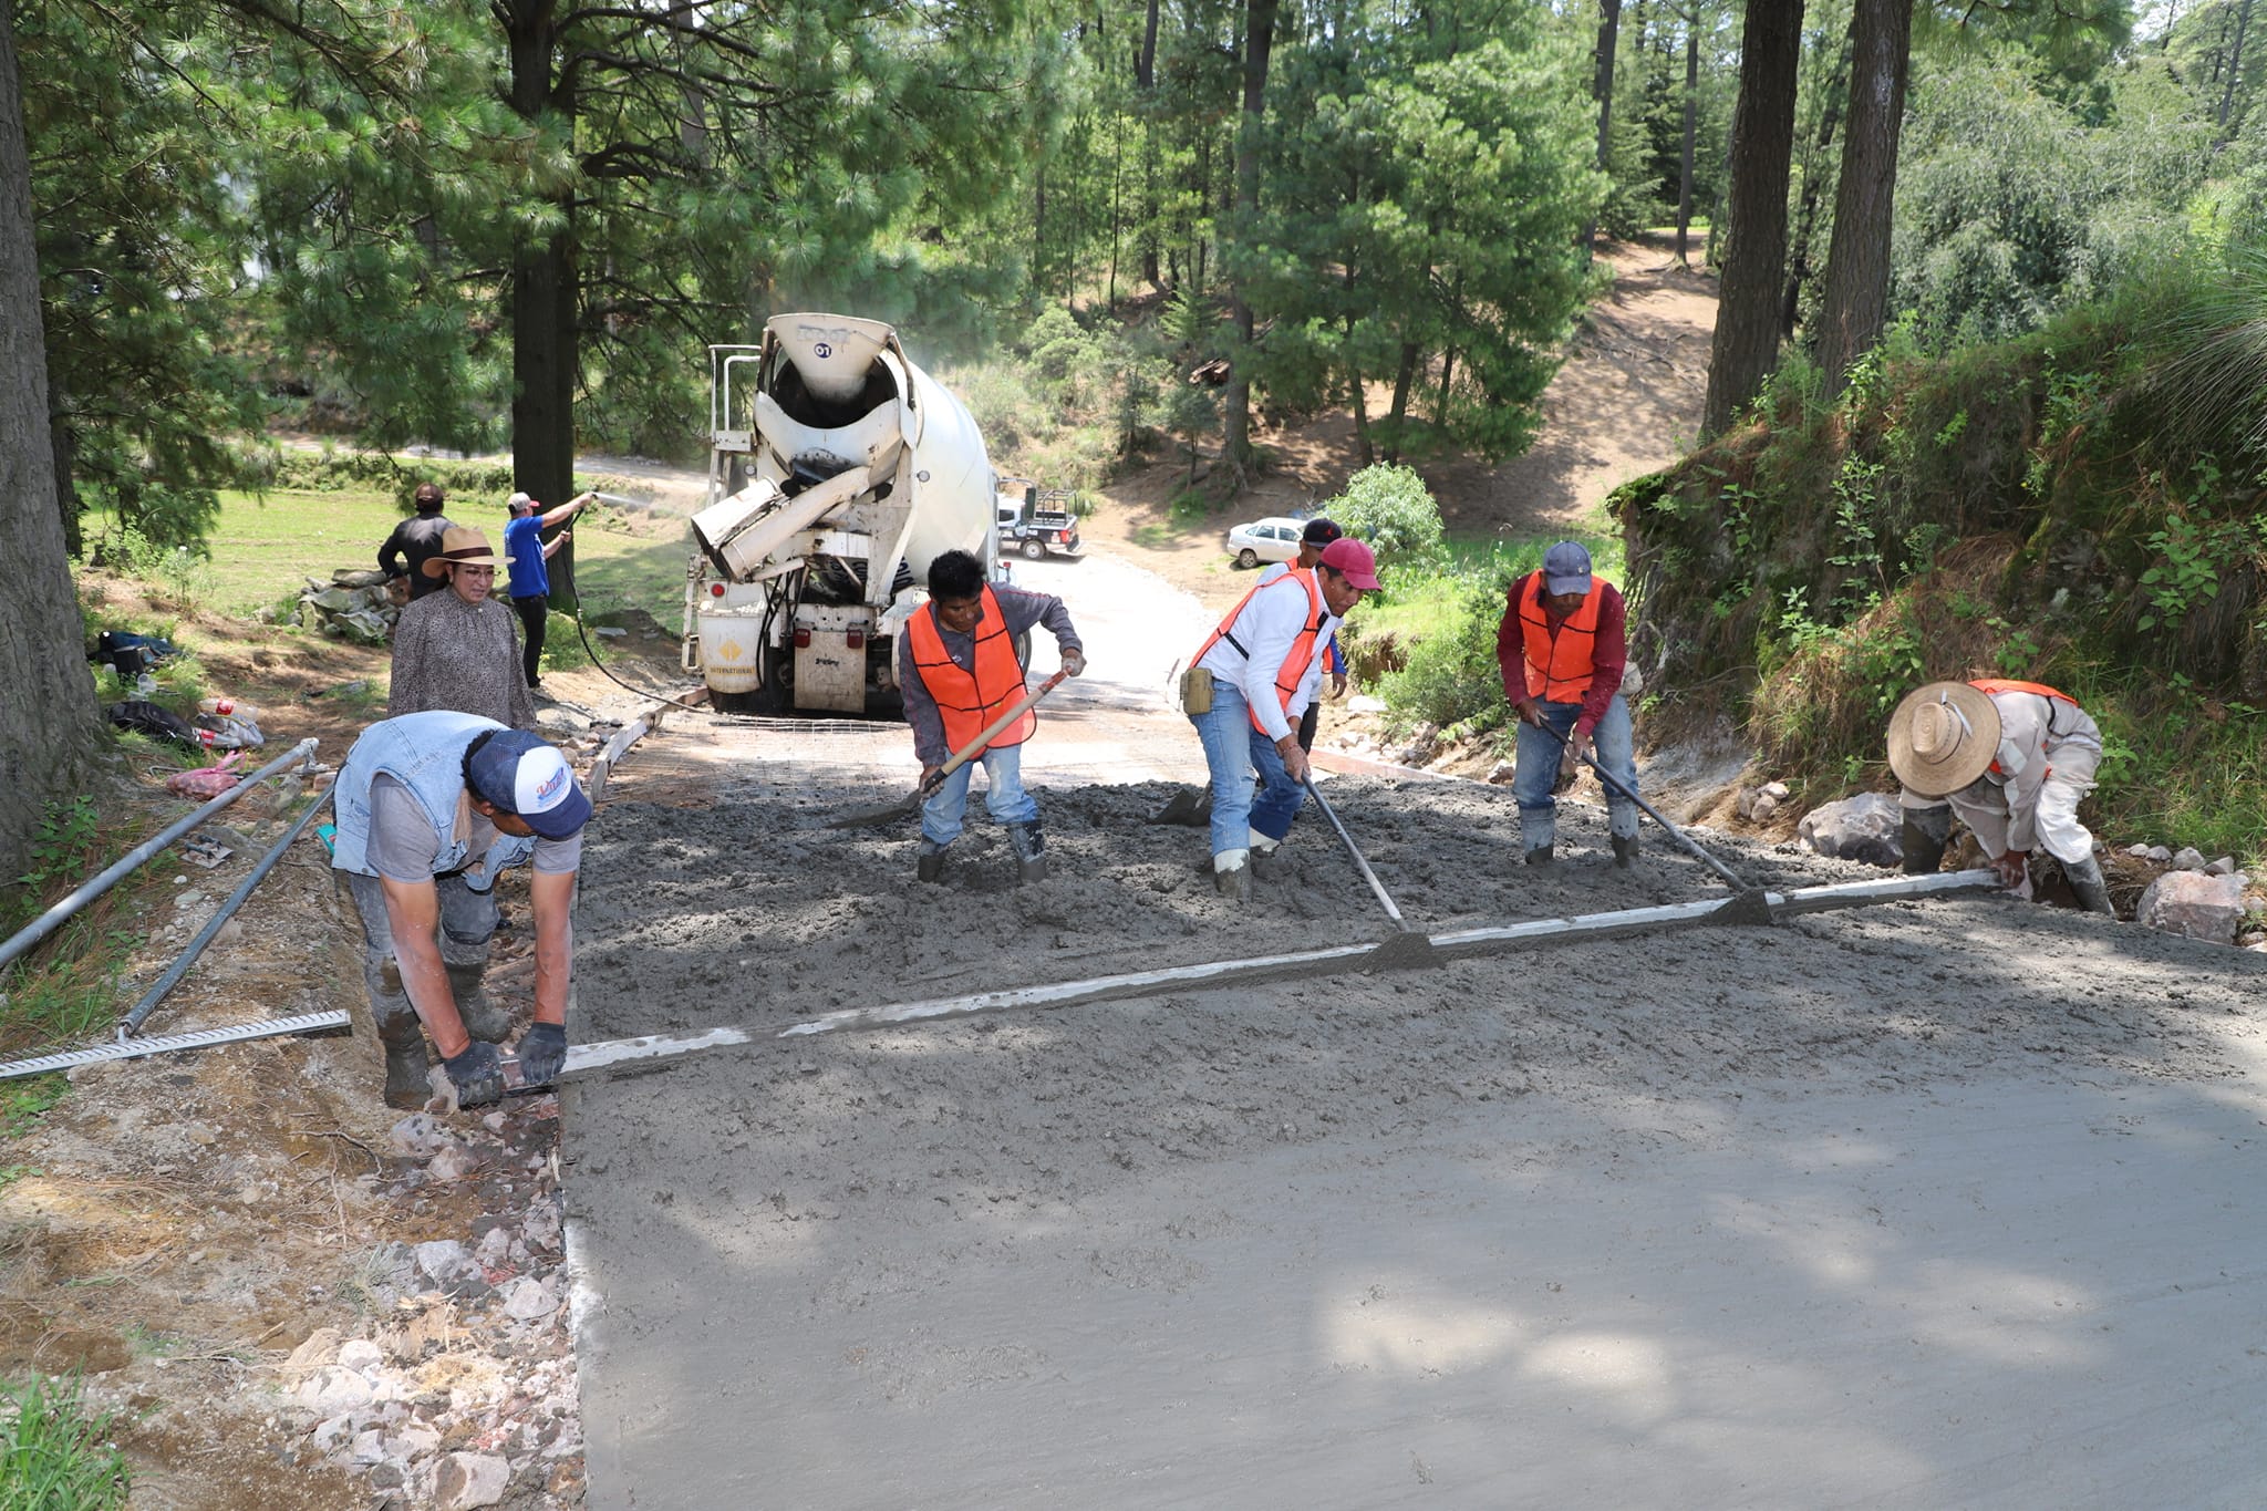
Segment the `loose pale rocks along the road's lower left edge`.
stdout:
[[390,1194],[472,1187],[490,1214],[469,1241],[374,1250],[356,1282],[370,1321],[356,1337],[317,1328],[279,1371],[279,1423],[406,1504],[580,1502],[558,1187],[549,1155],[510,1128],[524,1117],[490,1112],[481,1126],[501,1137],[469,1139],[426,1112],[394,1124]]

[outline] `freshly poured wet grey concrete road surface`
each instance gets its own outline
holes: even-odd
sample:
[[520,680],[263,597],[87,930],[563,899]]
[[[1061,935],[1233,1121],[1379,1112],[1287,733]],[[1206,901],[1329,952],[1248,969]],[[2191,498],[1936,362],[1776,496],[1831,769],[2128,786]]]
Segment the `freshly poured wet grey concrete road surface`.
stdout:
[[[1190,745],[1113,720],[1122,770]],[[923,888],[909,834],[823,829],[902,772],[737,736],[757,759],[712,804],[623,768],[583,1038],[1383,936],[1313,813],[1231,911],[1202,834],[1145,822],[1165,786],[1050,777],[1054,883],[1013,888],[977,818]],[[1333,791],[1430,929],[1721,895],[1657,840],[1603,865],[1596,813],[1528,870],[1501,791]],[[587,1083],[589,1497],[2256,1504],[2262,976],[1893,904]]]

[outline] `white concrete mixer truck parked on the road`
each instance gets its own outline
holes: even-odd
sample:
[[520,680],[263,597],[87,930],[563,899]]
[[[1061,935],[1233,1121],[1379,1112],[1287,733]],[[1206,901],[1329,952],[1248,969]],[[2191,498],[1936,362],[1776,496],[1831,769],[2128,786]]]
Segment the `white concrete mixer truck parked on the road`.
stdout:
[[775,315],[757,347],[710,347],[685,671],[725,711],[900,716],[929,560],[997,575],[995,487],[968,410],[877,319]]

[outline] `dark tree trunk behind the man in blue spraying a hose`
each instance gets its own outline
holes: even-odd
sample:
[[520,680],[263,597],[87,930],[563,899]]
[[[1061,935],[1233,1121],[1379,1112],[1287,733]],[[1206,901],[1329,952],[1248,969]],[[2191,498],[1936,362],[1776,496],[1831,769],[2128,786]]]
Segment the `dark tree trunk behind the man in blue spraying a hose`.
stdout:
[[[506,14],[512,59],[510,104],[524,120],[574,116],[574,97],[553,91],[558,54],[553,0],[515,0]],[[560,190],[564,227],[512,258],[512,480],[544,507],[574,496],[574,385],[583,360],[574,258],[574,199]],[[571,609],[574,541],[551,557],[551,600]]]

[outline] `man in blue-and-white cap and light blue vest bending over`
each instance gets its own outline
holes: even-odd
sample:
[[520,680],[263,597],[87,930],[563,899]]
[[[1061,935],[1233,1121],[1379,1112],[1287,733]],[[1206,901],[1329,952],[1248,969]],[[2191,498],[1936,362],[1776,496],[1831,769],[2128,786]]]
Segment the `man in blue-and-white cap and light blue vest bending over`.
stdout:
[[363,729],[338,770],[331,865],[363,920],[363,981],[385,1044],[385,1105],[428,1099],[419,1024],[460,1105],[503,1096],[496,1042],[512,1015],[481,976],[496,933],[496,874],[533,861],[535,1024],[519,1040],[528,1085],[567,1060],[574,874],[589,797],[567,757],[474,714],[404,714]]

